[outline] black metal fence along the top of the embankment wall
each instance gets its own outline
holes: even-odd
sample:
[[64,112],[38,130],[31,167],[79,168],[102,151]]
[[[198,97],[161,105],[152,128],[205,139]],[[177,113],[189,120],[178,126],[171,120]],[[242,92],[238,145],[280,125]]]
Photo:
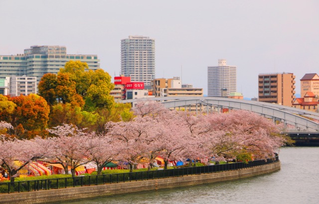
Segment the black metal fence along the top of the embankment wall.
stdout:
[[120,174],[104,174],[94,176],[77,176],[57,179],[43,179],[34,181],[18,181],[0,183],[0,193],[29,192],[49,189],[62,189],[67,187],[91,186],[112,184],[120,182],[143,181],[169,177],[182,177],[195,174],[207,174],[222,171],[232,171],[278,162],[278,156],[266,160],[210,165],[201,167],[174,168],[145,172],[132,172]]

